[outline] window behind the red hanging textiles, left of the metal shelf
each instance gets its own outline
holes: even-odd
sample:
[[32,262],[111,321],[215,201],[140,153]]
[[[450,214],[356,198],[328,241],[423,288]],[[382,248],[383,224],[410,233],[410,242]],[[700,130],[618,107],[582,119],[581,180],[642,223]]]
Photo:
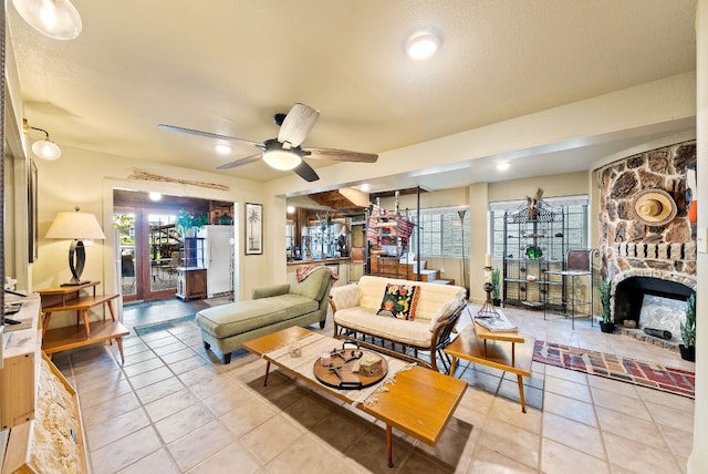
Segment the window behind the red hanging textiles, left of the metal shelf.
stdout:
[[[460,219],[460,213],[464,213]],[[410,220],[417,224],[417,213]],[[469,212],[467,206],[420,209],[420,258],[462,257],[469,254]],[[414,228],[408,251],[416,253],[418,229]]]

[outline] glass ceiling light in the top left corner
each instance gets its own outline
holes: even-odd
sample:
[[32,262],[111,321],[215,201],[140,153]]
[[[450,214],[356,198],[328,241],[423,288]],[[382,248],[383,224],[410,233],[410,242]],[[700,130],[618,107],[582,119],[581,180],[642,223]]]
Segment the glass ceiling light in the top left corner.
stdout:
[[40,33],[73,40],[81,33],[81,17],[70,0],[12,0],[20,17]]

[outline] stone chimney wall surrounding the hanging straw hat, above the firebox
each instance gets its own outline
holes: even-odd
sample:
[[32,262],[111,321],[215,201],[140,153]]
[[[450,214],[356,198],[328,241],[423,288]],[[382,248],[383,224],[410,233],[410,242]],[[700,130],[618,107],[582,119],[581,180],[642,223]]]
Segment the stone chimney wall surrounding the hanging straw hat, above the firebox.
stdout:
[[[696,289],[696,228],[687,216],[686,165],[696,162],[696,141],[628,156],[597,169],[601,275],[618,282],[653,277]],[[666,190],[678,213],[668,224],[647,226],[632,206],[643,189]],[[613,308],[614,312],[614,308]]]

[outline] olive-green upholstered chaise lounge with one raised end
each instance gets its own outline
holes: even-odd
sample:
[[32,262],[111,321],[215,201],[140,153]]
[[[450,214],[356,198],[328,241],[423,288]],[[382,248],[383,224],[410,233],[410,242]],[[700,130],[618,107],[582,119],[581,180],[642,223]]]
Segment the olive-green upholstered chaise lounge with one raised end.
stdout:
[[324,328],[332,274],[325,267],[312,271],[302,281],[273,285],[253,290],[250,300],[202,309],[195,323],[201,330],[205,349],[215,346],[231,362],[231,352],[250,339],[292,326],[315,322]]

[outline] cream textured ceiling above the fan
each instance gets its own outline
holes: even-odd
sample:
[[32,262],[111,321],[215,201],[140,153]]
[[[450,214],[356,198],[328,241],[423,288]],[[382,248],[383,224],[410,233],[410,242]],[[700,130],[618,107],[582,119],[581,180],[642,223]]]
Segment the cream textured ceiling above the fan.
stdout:
[[[84,27],[65,42],[8,2],[30,123],[61,146],[205,171],[254,150],[220,156],[157,124],[261,142],[303,102],[322,113],[303,146],[382,153],[696,63],[695,0],[73,2]],[[415,62],[404,43],[424,28],[442,45]],[[282,176],[262,163],[220,173]]]

